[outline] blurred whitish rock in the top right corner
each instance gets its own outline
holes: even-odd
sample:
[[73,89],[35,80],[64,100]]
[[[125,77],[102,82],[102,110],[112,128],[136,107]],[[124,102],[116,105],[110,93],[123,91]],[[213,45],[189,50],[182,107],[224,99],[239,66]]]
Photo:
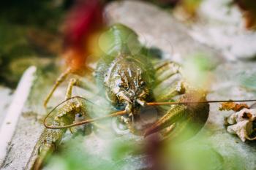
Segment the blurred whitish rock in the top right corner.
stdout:
[[192,25],[190,35],[197,41],[222,51],[227,60],[256,56],[256,33],[246,30],[242,12],[232,0],[203,1],[200,19]]

